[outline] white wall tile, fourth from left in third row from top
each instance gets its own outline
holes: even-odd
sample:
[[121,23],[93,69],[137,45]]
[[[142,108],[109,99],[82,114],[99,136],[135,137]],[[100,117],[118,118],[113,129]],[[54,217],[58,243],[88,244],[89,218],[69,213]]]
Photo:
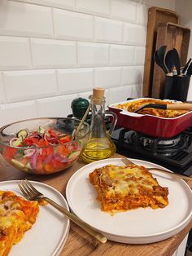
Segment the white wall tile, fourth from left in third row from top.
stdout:
[[134,46],[111,45],[110,64],[111,66],[133,65]]

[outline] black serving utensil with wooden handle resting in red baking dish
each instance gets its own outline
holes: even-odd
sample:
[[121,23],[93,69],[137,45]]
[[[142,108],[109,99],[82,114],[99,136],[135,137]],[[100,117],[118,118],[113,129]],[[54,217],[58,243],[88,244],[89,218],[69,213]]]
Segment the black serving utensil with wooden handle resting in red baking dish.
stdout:
[[192,110],[192,104],[144,104],[141,108],[137,108],[134,113],[138,113],[144,108],[174,109],[174,110]]

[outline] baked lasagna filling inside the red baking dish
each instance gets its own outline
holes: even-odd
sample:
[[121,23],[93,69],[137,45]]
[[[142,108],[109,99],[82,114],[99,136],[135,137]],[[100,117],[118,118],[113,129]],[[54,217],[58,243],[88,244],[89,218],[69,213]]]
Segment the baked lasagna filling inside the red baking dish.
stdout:
[[[118,104],[115,107],[124,109],[129,112],[134,112],[138,108],[141,108],[144,104],[174,104],[170,101],[164,101],[161,99],[138,99],[134,101],[128,101],[124,104]],[[140,114],[149,114],[156,117],[179,117],[185,113],[188,113],[187,110],[165,110],[165,109],[158,109],[158,108],[144,108],[139,111]]]

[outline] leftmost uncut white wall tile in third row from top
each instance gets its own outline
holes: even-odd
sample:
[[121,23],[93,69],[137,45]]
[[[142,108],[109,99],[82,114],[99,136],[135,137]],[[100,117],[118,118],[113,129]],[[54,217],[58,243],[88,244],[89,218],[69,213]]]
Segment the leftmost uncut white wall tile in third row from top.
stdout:
[[76,66],[76,42],[31,39],[33,68],[72,68]]

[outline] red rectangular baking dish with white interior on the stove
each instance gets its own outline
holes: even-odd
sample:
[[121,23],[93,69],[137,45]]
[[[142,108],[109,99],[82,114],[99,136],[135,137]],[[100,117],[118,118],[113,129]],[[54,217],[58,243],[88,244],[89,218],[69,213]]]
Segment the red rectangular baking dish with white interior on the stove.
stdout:
[[[139,98],[147,99],[147,98]],[[150,98],[151,99],[151,98]],[[134,101],[138,99],[130,99]],[[170,100],[172,101],[172,100]],[[179,117],[166,118],[155,117],[152,115],[142,115],[138,113],[131,113],[120,108],[116,108],[118,104],[124,104],[128,101],[111,104],[108,106],[109,110],[115,112],[117,119],[117,126],[135,130],[144,135],[149,135],[158,138],[172,138],[192,126],[192,111],[185,113]]]

